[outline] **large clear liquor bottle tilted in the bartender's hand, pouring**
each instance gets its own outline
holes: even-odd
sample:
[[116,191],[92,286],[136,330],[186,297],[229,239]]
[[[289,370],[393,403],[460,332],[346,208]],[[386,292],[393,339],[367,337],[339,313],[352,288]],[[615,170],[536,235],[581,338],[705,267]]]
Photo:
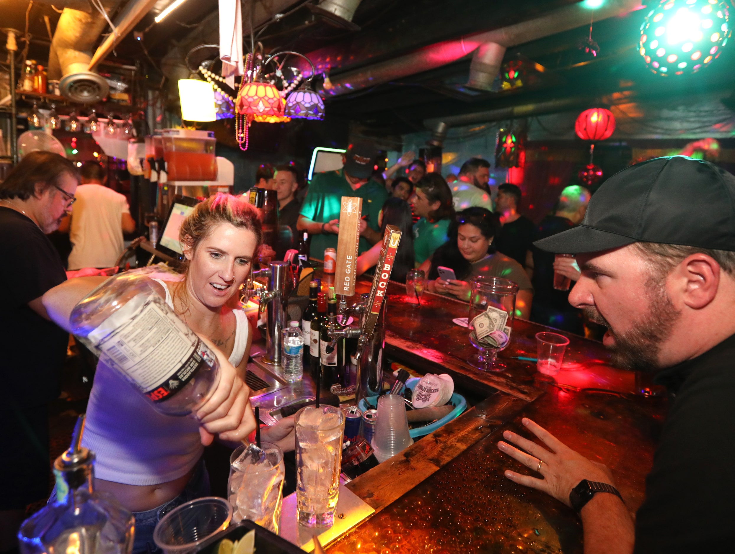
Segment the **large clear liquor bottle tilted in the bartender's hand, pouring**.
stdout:
[[71,312],[73,334],[167,415],[196,412],[219,380],[215,353],[154,290],[147,271],[105,281]]

